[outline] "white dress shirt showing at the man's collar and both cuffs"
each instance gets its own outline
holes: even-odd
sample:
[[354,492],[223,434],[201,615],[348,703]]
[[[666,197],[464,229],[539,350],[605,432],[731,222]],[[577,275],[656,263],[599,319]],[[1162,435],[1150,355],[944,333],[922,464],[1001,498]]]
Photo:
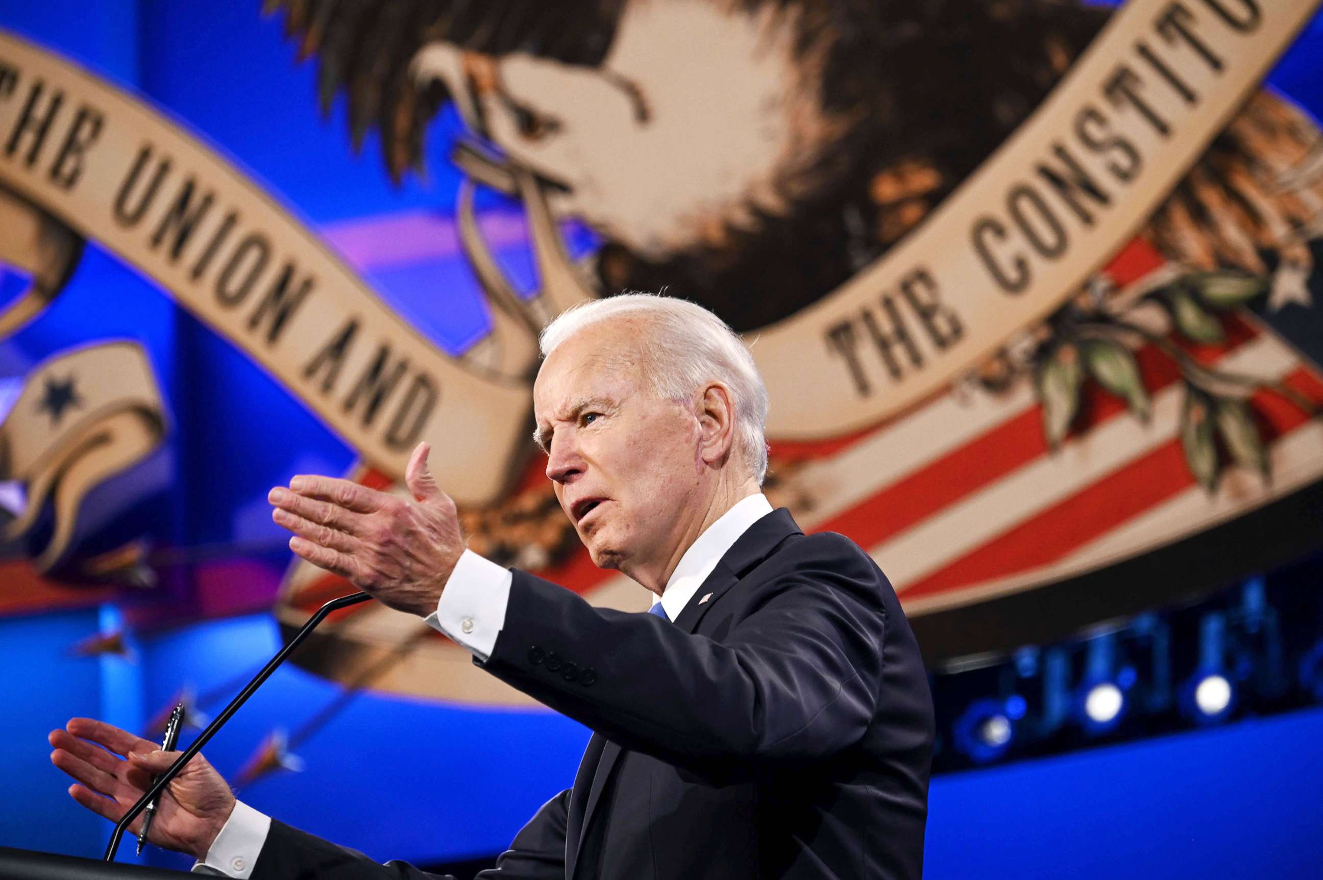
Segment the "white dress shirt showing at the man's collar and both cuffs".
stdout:
[[[659,601],[665,616],[672,621],[677,620],[740,535],[770,513],[771,503],[758,493],[737,502],[708,526],[684,551],[662,589]],[[486,661],[496,647],[496,636],[505,624],[505,606],[509,604],[513,581],[515,575],[508,568],[466,550],[446,581],[437,610],[427,614],[427,624],[478,659]],[[270,817],[243,802],[235,802],[229,821],[208,850],[206,860],[194,864],[193,872],[247,880],[270,827]]]

